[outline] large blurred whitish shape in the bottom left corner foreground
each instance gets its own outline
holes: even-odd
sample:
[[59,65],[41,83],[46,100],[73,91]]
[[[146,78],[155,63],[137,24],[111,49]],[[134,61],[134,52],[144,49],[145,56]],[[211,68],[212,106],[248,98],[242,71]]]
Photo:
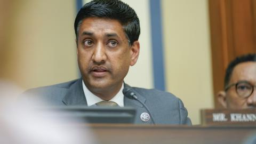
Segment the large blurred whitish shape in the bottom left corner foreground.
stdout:
[[[17,102],[20,90],[0,83],[0,143],[94,143],[92,134],[59,119],[58,111],[38,111],[41,101]],[[54,115],[55,117],[49,117]]]

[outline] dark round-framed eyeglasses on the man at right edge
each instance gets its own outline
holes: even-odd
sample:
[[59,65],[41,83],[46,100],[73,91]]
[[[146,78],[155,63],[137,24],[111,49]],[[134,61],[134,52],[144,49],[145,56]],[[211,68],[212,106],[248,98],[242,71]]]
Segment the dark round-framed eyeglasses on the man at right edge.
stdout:
[[230,89],[230,87],[232,87],[232,86],[236,86],[236,93],[241,98],[250,97],[250,95],[253,93],[254,87],[256,87],[256,85],[252,85],[247,81],[240,81],[235,84],[231,84],[231,85],[227,86],[225,88],[225,91]]

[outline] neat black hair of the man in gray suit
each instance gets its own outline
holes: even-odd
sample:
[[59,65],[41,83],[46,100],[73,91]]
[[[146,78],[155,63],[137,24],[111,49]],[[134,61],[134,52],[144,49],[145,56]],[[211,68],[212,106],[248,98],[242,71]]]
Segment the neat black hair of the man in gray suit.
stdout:
[[138,41],[140,35],[140,21],[135,11],[127,4],[119,0],[94,0],[86,3],[77,13],[75,19],[75,33],[78,37],[79,27],[86,18],[98,17],[118,20],[129,41],[133,44]]

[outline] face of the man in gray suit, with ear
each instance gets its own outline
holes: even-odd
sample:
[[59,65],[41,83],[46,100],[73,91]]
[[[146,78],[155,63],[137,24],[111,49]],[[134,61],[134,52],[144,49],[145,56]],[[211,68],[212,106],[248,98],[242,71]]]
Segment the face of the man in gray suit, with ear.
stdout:
[[129,46],[121,23],[86,18],[77,37],[78,66],[86,87],[108,100],[121,89],[123,79],[139,56],[139,42]]

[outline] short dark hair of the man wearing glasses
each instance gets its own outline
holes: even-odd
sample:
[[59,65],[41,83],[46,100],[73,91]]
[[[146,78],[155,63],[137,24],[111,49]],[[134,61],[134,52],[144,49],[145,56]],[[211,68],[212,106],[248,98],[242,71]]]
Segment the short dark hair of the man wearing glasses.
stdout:
[[228,86],[228,83],[230,81],[230,78],[231,78],[231,75],[233,73],[233,69],[235,68],[235,66],[238,65],[239,63],[249,62],[249,61],[256,62],[256,53],[242,55],[240,57],[237,57],[236,59],[234,59],[233,61],[231,61],[229,63],[228,68],[226,69],[226,75],[225,75],[225,80],[224,80],[225,87]]

